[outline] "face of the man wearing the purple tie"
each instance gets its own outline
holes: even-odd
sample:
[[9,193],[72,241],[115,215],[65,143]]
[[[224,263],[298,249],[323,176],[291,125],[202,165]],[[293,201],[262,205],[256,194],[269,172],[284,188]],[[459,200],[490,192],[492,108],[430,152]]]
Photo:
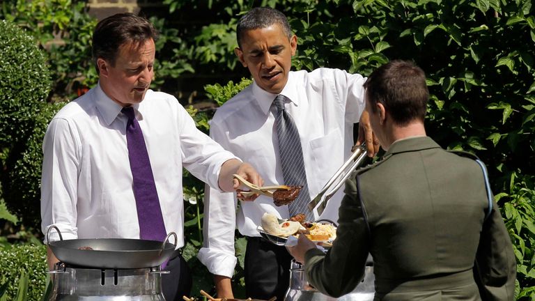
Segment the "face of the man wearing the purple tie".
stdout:
[[150,39],[139,45],[121,45],[114,66],[98,59],[104,93],[123,107],[141,102],[153,80],[155,52],[154,41]]

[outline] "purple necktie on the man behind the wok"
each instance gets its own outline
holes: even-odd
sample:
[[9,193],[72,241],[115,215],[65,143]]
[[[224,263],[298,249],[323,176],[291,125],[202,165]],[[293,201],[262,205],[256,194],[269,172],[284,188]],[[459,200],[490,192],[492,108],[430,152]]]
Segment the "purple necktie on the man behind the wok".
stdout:
[[139,128],[134,108],[125,107],[121,111],[128,117],[126,141],[132,170],[132,190],[134,190],[139,220],[139,238],[164,241],[166,238],[164,218],[143,132]]

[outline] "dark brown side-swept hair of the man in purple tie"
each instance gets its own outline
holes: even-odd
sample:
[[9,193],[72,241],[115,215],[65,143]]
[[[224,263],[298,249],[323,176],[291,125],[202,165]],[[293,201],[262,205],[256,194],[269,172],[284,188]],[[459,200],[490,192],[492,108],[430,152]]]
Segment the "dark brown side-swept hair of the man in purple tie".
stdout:
[[93,62],[105,59],[115,66],[119,47],[125,43],[141,45],[158,38],[158,31],[146,18],[132,13],[118,13],[98,22],[93,32]]

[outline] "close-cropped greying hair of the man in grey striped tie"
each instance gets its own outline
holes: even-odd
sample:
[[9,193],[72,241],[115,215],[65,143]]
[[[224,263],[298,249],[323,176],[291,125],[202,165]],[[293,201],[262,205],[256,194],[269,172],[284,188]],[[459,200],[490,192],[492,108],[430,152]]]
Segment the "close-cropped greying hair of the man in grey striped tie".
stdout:
[[292,29],[284,13],[270,7],[258,7],[249,10],[249,12],[240,18],[238,25],[236,25],[238,47],[242,47],[242,36],[245,31],[263,29],[273,24],[279,24],[282,27],[284,34],[288,36],[288,40],[292,38]]

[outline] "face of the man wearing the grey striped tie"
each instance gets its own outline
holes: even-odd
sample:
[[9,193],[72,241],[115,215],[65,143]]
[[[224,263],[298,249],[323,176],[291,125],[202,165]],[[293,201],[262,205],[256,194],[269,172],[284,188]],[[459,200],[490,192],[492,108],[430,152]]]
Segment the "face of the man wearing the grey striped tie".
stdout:
[[242,47],[234,52],[242,65],[249,69],[256,84],[267,92],[279,94],[288,82],[297,37],[288,39],[279,24],[272,24],[245,31],[241,43]]

